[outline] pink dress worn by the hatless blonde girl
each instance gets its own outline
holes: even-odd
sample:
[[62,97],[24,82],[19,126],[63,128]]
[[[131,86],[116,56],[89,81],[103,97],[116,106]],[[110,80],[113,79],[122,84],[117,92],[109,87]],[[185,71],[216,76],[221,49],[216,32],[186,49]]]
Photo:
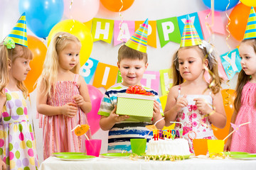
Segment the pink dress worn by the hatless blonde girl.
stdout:
[[[79,94],[78,74],[74,81],[57,81],[55,94],[48,97],[47,104],[50,106],[64,106],[66,103],[75,103],[73,96]],[[53,92],[53,91],[52,91]],[[39,117],[40,128],[43,128],[43,158],[50,157],[54,152],[85,152],[85,135],[77,136],[71,132],[77,125],[88,124],[85,113],[78,109],[73,118],[64,115],[41,115]],[[91,138],[90,130],[87,137]]]

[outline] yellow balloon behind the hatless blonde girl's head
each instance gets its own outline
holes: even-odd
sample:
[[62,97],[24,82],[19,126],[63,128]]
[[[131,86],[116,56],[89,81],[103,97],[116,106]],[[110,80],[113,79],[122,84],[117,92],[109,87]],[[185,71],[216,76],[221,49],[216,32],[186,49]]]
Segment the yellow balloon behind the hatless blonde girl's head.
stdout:
[[80,66],[85,64],[85,62],[90,57],[92,52],[92,34],[90,29],[85,26],[85,24],[79,21],[73,20],[64,20],[57,23],[51,30],[48,35],[48,46],[50,44],[50,40],[58,32],[67,32],[75,35],[81,42],[82,47],[80,50]]

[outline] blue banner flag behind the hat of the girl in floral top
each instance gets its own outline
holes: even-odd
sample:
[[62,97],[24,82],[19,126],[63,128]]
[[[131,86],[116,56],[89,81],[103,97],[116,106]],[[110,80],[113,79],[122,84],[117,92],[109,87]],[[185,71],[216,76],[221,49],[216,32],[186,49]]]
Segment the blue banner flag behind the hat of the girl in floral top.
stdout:
[[[200,25],[200,21],[199,21],[199,18],[198,18],[198,13],[190,13],[190,14],[187,14],[187,15],[191,18],[193,26],[195,26],[195,28],[196,28],[196,32],[198,32],[199,37],[201,38],[201,40],[203,40],[203,33],[202,33],[202,30],[201,30],[201,25]],[[184,26],[185,26],[185,23],[186,23],[187,15],[177,17],[178,18],[178,27],[180,29],[181,35],[183,33],[183,29],[184,29]]]

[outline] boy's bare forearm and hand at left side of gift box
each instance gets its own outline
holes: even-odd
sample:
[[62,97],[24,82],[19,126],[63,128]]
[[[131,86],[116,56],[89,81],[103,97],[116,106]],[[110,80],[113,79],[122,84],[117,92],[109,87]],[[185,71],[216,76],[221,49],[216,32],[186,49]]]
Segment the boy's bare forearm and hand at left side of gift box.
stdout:
[[102,128],[102,130],[110,130],[114,126],[114,124],[129,118],[129,115],[117,115],[116,111],[117,106],[114,106],[114,109],[110,113],[110,116],[101,115],[100,128]]

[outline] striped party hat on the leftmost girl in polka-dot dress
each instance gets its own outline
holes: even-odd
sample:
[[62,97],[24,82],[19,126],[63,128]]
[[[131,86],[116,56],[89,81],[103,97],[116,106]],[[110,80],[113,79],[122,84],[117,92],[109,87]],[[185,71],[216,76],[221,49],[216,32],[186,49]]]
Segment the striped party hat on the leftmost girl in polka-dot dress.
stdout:
[[11,30],[11,33],[7,35],[6,38],[11,38],[16,44],[23,45],[28,47],[28,40],[26,34],[26,15],[23,13],[21,18],[18,19],[18,22]]

